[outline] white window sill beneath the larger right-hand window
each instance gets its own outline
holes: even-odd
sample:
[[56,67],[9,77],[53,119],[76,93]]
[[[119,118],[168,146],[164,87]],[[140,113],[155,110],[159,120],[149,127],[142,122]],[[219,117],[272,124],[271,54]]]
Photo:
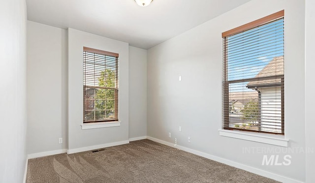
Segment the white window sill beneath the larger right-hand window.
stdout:
[[289,139],[285,139],[283,135],[272,134],[256,134],[254,132],[244,132],[235,130],[219,129],[219,133],[224,137],[243,139],[253,142],[272,144],[276,146],[288,147]]

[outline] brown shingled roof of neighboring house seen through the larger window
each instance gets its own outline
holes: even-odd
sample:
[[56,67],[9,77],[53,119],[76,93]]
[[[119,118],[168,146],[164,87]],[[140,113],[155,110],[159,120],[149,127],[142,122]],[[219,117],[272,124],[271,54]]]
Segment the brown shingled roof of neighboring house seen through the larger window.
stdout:
[[[275,57],[270,61],[256,76],[267,77],[284,75],[284,56]],[[281,78],[251,81],[247,84],[247,88],[274,87],[281,85]]]

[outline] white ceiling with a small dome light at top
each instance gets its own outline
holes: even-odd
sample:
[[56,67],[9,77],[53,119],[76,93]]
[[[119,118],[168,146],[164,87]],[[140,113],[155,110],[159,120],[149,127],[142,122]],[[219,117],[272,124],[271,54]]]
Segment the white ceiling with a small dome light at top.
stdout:
[[250,0],[27,0],[28,20],[148,49]]

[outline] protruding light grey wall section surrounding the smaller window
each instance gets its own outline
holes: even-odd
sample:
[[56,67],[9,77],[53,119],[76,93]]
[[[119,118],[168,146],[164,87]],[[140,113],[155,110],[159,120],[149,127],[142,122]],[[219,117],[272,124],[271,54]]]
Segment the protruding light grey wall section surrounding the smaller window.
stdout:
[[[81,129],[81,124],[83,124],[83,47],[119,54],[119,121],[121,121],[121,126]],[[82,151],[86,147],[128,140],[128,49],[128,43],[68,29],[68,149],[72,152]]]

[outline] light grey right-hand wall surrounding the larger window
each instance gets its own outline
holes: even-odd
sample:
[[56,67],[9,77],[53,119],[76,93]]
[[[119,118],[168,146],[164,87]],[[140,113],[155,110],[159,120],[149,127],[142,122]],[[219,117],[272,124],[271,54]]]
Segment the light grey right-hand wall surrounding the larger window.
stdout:
[[[304,153],[289,153],[289,166],[263,166],[263,155],[271,154],[244,153],[243,148],[277,146],[223,137],[218,132],[222,122],[221,32],[284,9],[285,138],[290,139],[290,148],[305,147],[304,8],[300,0],[252,0],[148,50],[148,136],[170,143],[177,138],[177,145],[270,172],[270,176],[305,181]],[[280,153],[281,159],[284,154]]]

